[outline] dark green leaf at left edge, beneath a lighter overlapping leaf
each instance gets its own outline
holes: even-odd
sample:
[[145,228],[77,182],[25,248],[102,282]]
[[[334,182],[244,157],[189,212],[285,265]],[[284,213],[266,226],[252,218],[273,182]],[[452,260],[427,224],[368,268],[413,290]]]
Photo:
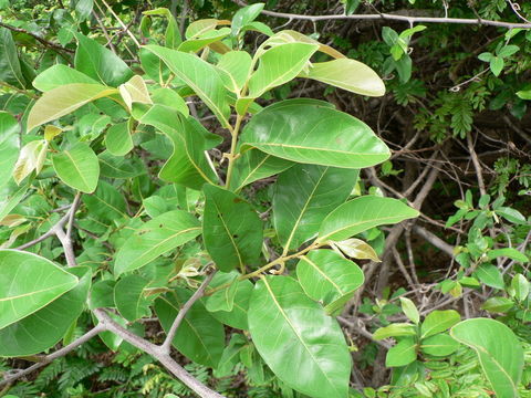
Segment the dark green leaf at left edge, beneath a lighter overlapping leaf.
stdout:
[[0,356],[34,355],[53,347],[81,315],[91,286],[92,270],[69,269],[80,283],[45,307],[0,329]]

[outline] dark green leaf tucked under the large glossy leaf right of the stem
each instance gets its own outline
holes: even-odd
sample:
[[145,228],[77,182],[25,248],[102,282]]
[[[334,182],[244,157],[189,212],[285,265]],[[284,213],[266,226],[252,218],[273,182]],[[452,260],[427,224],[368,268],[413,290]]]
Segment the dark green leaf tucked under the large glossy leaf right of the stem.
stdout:
[[274,157],[258,149],[247,150],[236,160],[230,189],[238,192],[244,186],[282,172],[293,165],[290,160]]

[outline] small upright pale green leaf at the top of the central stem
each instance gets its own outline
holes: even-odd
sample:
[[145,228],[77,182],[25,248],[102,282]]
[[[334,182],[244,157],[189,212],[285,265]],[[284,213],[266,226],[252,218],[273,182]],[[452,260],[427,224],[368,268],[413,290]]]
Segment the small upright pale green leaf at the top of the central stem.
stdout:
[[239,94],[251,72],[251,55],[246,51],[229,51],[221,55],[216,66],[225,87]]

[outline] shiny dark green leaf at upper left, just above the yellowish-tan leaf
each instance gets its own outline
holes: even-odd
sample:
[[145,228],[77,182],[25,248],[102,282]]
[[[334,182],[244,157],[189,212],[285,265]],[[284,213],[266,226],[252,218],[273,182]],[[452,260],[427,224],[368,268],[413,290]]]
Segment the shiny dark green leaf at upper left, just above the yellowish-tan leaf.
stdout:
[[77,71],[113,87],[133,77],[127,64],[111,50],[81,33],[75,38],[79,42],[74,59]]

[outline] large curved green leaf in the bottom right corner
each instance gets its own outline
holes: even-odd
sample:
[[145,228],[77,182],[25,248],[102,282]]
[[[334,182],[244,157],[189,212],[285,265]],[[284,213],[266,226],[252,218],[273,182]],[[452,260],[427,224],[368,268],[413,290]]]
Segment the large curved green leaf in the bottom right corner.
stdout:
[[519,396],[523,349],[508,326],[488,318],[466,320],[454,326],[450,335],[476,350],[498,398]]

